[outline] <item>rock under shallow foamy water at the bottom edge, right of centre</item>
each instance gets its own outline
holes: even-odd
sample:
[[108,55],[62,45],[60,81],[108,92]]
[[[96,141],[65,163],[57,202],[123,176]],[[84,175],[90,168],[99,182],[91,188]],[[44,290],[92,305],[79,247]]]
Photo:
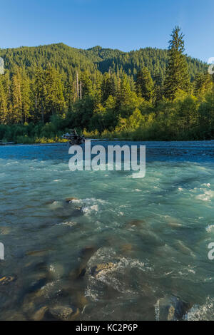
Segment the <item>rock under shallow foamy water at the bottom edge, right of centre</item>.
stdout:
[[190,309],[190,304],[177,297],[164,297],[156,303],[156,318],[158,321],[182,320]]

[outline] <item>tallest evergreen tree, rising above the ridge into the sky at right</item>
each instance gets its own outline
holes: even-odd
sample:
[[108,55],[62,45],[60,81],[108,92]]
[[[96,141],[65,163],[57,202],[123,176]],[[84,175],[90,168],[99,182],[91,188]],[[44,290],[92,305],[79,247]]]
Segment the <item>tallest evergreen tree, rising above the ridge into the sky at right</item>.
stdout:
[[185,50],[183,33],[180,33],[178,26],[173,29],[171,37],[172,39],[169,41],[168,50],[169,60],[164,83],[165,98],[169,100],[173,100],[178,91],[190,91],[188,65],[183,55]]

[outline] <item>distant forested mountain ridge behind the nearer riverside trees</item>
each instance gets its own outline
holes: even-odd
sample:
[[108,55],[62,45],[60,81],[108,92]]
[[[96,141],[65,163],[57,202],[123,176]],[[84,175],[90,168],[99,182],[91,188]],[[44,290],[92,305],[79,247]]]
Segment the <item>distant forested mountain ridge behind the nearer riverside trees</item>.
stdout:
[[[141,48],[137,51],[123,52],[110,48],[95,46],[88,50],[71,48],[63,43],[47,46],[20,47],[1,49],[0,56],[4,58],[5,66],[14,71],[16,66],[31,71],[37,66],[46,68],[52,66],[60,73],[74,74],[76,69],[94,73],[96,69],[101,73],[109,69],[115,73],[125,73],[136,78],[138,71],[146,66],[151,76],[156,73],[165,76],[168,62],[167,50],[158,48]],[[187,57],[188,70],[193,80],[195,74],[207,69],[207,64],[198,59]]]

